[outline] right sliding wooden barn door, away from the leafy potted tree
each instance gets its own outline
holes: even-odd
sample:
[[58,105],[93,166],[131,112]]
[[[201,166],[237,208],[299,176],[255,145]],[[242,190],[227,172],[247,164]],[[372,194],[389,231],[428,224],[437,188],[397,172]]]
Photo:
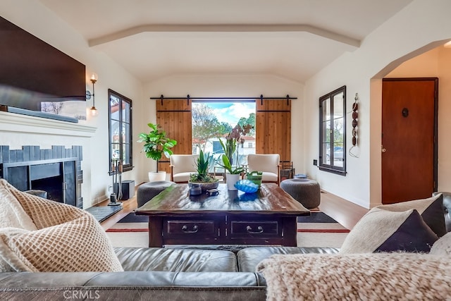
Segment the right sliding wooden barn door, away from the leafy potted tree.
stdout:
[[279,154],[291,161],[291,100],[256,99],[257,154]]

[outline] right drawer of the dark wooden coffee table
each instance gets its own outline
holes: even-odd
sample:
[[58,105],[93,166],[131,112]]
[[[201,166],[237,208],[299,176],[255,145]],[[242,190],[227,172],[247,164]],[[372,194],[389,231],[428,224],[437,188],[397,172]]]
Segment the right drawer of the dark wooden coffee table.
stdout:
[[231,237],[279,235],[280,221],[230,221]]

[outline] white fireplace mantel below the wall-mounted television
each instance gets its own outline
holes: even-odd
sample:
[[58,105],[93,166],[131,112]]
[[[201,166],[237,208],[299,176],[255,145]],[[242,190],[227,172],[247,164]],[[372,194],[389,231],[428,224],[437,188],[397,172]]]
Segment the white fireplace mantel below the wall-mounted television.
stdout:
[[0,129],[4,132],[38,133],[76,137],[93,137],[97,128],[47,118],[0,111]]

